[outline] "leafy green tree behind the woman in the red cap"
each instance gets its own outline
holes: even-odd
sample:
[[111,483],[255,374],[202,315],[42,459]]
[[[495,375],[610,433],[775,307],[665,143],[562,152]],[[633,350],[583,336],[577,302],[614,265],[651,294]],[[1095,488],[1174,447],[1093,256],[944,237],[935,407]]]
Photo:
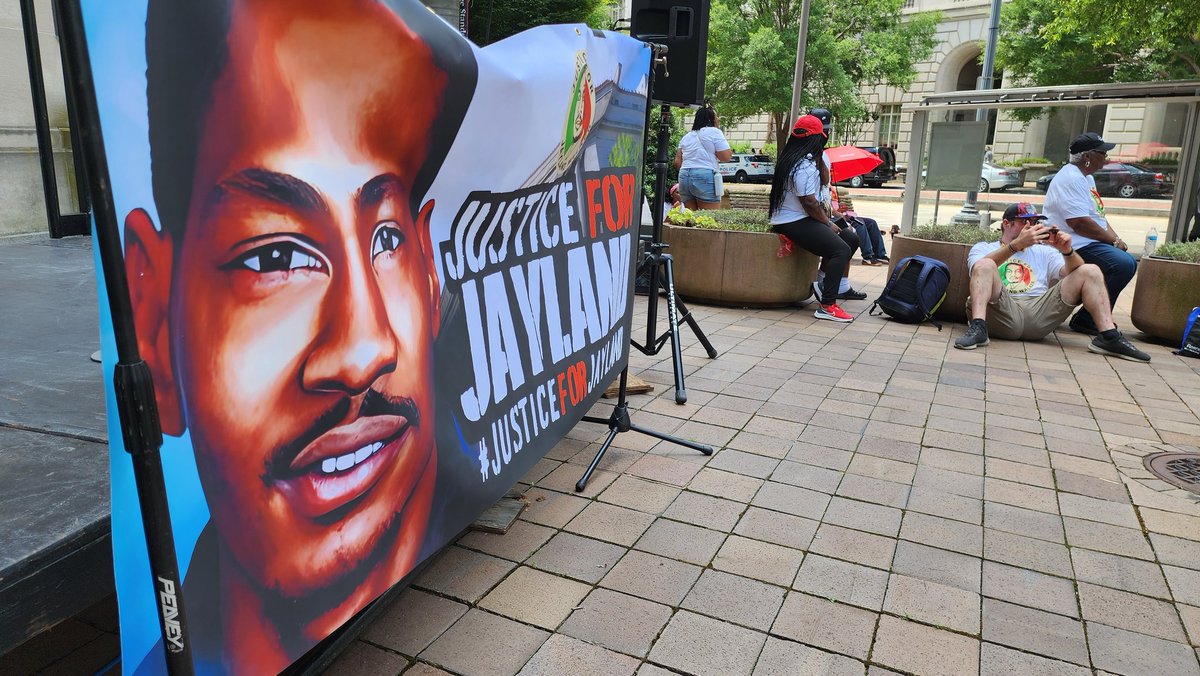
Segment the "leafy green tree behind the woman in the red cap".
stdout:
[[[714,0],[707,92],[722,124],[768,113],[775,139],[792,120],[802,0]],[[829,108],[844,130],[868,119],[862,86],[907,86],[937,44],[937,13],[902,14],[904,0],[812,0],[802,108]]]

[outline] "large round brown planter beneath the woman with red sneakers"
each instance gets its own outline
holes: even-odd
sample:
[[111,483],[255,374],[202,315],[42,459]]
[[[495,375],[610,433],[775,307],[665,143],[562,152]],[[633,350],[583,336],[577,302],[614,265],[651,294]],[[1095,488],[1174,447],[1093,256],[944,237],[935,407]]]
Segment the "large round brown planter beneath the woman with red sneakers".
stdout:
[[812,295],[820,259],[800,249],[778,258],[779,237],[664,225],[676,261],[676,292],[685,300],[781,307]]

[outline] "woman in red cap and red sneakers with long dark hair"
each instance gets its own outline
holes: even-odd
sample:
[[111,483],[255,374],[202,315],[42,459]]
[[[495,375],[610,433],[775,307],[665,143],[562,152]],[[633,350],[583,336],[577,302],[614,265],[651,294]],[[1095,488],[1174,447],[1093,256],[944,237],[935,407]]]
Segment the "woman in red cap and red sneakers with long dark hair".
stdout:
[[838,306],[838,289],[850,257],[858,249],[858,235],[848,226],[834,225],[821,205],[821,152],[826,136],[821,120],[802,115],[796,120],[787,145],[775,163],[770,184],[770,226],[797,246],[820,256],[824,279],[815,312],[817,319],[852,322],[854,317]]

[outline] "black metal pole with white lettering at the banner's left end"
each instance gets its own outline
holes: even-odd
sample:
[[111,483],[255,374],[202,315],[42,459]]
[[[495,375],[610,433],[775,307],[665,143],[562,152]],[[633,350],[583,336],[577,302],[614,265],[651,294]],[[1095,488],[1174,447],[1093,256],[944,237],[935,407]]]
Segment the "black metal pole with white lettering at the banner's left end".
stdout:
[[95,203],[96,246],[104,270],[108,307],[116,337],[118,364],[113,384],[125,450],[133,461],[133,478],[142,508],[146,550],[150,555],[150,575],[155,588],[155,606],[158,611],[167,670],[170,674],[190,675],[194,671],[191,636],[187,632],[184,586],[175,561],[175,537],[170,526],[167,487],[158,455],[158,449],[162,447],[162,430],[158,426],[158,408],[150,369],[138,353],[133,307],[125,277],[125,257],[113,207],[108,160],[100,127],[83,16],[78,0],[55,1],[59,4],[59,16],[62,19],[64,53],[71,61],[68,68],[71,82],[67,86],[74,88],[78,95],[77,125],[86,160],[91,198]]

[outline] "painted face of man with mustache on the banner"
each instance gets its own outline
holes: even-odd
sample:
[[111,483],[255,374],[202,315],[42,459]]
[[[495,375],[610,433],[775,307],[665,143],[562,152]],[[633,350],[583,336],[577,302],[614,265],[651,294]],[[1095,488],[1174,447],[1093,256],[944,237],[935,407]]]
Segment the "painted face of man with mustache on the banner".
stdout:
[[438,285],[409,190],[448,78],[378,5],[246,2],[228,44],[170,263],[145,245],[164,325],[138,329],[222,550],[283,599],[328,590],[324,635],[412,569],[430,514]]

